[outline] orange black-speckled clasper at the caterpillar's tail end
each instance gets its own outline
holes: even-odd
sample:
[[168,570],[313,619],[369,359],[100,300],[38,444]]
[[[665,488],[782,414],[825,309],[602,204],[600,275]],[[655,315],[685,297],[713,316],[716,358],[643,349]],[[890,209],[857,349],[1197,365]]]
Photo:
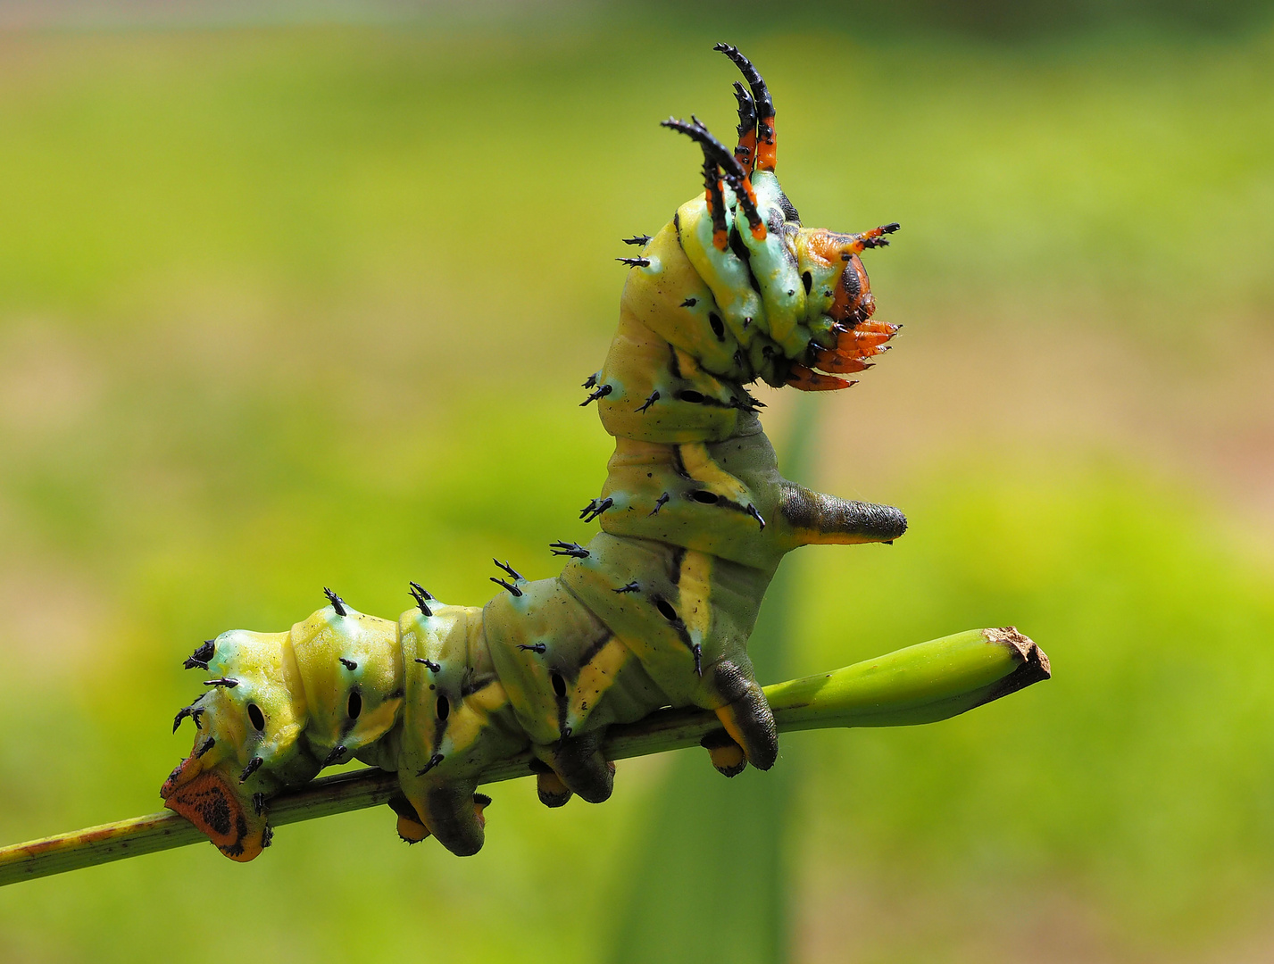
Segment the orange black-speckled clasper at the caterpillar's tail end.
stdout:
[[270,824],[256,812],[236,782],[217,768],[205,768],[191,754],[168,774],[159,790],[164,806],[190,820],[217,849],[246,863],[270,846]]

